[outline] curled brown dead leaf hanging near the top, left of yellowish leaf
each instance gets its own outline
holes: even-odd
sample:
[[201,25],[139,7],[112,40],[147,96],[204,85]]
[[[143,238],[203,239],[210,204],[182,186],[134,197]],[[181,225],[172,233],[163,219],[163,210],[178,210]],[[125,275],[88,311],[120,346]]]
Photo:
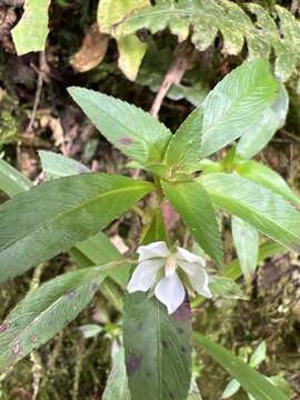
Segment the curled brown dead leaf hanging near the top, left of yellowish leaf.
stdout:
[[84,37],[81,48],[71,58],[71,66],[77,72],[87,72],[97,67],[107,53],[109,37],[99,31],[98,23],[93,23]]

